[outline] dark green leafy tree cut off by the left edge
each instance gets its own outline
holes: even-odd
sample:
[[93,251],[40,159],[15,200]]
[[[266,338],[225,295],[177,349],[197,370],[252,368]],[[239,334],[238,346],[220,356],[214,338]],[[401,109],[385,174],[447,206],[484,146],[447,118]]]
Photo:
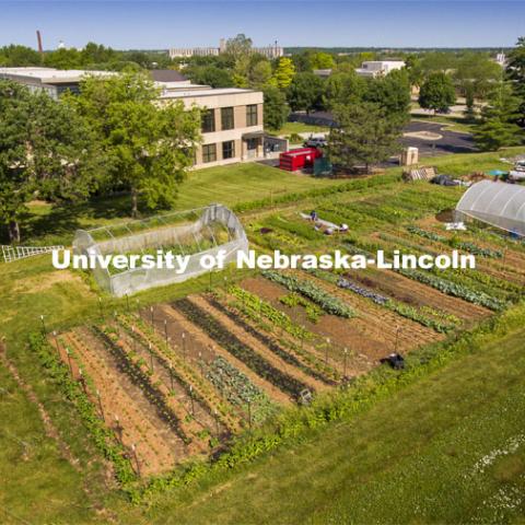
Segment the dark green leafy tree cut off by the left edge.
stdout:
[[85,122],[44,92],[0,81],[0,220],[20,242],[27,201],[84,198],[104,159]]

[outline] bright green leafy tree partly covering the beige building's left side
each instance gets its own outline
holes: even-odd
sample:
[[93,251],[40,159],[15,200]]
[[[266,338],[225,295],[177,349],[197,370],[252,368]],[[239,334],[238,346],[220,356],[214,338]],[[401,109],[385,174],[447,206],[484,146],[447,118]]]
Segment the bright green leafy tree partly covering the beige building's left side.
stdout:
[[89,77],[80,95],[68,98],[106,151],[110,180],[129,187],[133,215],[139,196],[150,209],[174,203],[200,138],[198,109],[185,110],[180,102],[161,106],[159,94],[147,74],[124,73]]

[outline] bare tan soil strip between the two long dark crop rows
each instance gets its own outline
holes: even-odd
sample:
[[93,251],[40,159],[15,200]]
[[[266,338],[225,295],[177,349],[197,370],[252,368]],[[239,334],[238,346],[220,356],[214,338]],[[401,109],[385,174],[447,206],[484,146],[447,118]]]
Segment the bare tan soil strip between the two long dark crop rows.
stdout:
[[320,381],[315,380],[314,377],[307,375],[302,370],[287,363],[281,358],[276,355],[270,349],[262,345],[258,339],[248,334],[244,328],[236,325],[228,315],[220,312],[218,308],[212,306],[206,299],[199,295],[191,295],[188,298],[194,304],[202,308],[205,312],[214,317],[221,325],[223,325],[228,331],[237,337],[241,341],[247,345],[249,348],[255,350],[259,355],[261,355],[266,361],[276,366],[278,370],[282,370],[285,374],[295,377],[301,381],[308,388],[323,392],[328,388],[327,385]]

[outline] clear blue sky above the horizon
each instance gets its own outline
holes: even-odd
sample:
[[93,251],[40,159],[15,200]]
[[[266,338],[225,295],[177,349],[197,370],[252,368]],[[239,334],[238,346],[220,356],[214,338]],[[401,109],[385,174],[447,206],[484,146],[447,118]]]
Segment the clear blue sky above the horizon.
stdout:
[[525,35],[525,2],[498,1],[3,1],[0,45],[117,49],[217,46],[245,33],[255,45],[488,47]]

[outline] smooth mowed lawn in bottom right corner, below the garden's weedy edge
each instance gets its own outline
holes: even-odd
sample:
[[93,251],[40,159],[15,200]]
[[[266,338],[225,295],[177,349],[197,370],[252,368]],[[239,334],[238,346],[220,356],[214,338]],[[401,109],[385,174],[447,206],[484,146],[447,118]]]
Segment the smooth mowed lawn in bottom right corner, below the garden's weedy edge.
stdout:
[[516,328],[305,444],[220,485],[163,498],[151,517],[177,524],[520,518],[525,440],[516,450],[512,443],[524,435],[524,341],[525,328]]

